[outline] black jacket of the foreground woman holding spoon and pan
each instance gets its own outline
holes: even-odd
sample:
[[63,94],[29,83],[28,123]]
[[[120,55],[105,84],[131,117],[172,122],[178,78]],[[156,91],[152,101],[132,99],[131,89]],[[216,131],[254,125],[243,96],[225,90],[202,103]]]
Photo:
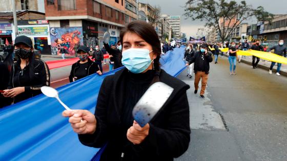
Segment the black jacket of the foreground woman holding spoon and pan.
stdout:
[[[124,78],[128,70],[123,68],[115,75],[107,76],[101,84],[95,110],[97,120],[94,134],[79,134],[82,144],[103,147],[107,143],[103,160],[120,160],[122,143],[127,131],[122,128],[121,109],[124,98]],[[186,90],[189,85],[161,70],[160,81],[174,88],[171,97],[150,121],[149,135],[139,145],[130,144],[126,149],[129,158],[124,160],[173,160],[183,154],[190,142],[189,104]],[[129,142],[129,141],[128,141]]]

